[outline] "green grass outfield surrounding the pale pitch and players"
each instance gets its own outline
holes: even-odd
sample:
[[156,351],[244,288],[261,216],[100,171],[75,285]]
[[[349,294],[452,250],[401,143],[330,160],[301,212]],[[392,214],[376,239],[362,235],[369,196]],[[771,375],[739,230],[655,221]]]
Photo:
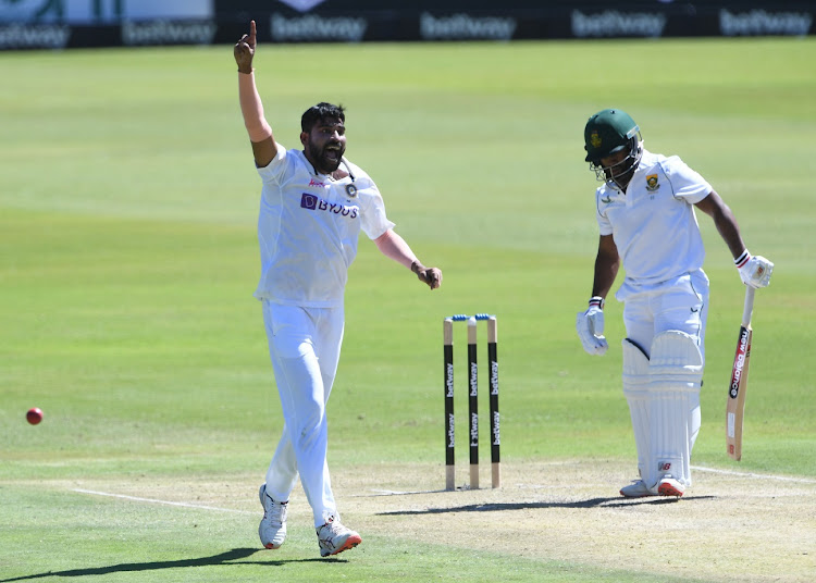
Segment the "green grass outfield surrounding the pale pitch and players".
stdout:
[[[744,288],[698,213],[712,301],[693,462],[815,479],[814,62],[812,38],[260,46],[276,139],[297,147],[317,101],[346,106],[349,158],[444,271],[430,293],[362,236],[329,410],[341,487],[380,463],[443,486],[442,319],[461,312],[498,315],[503,462],[634,467],[621,306],[607,305],[604,358],[573,327],[597,241],[583,124],[611,106],[652,151],[701,172],[776,263],[756,296],[737,463],[724,425]],[[321,561],[293,528],[284,549],[256,554],[254,488],[281,418],[251,297],[260,181],[231,47],[0,53],[0,582],[654,579],[648,565],[613,572],[399,531],[362,532],[359,549]],[[220,484],[233,511],[77,492],[154,498],[154,483],[180,499]]]

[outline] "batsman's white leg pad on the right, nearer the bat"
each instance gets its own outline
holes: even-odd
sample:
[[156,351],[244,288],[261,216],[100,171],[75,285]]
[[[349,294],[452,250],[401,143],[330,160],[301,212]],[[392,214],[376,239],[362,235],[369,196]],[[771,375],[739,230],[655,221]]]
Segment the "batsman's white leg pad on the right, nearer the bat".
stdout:
[[646,483],[656,483],[663,475],[671,474],[689,486],[691,450],[700,433],[703,356],[684,332],[662,332],[652,343],[648,373],[653,449]]

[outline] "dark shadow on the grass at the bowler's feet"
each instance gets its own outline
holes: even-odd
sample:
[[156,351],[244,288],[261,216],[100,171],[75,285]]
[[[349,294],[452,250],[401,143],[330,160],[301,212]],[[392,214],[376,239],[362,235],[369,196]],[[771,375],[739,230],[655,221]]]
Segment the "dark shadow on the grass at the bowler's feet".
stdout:
[[[33,573],[30,575],[14,576],[11,579],[0,579],[0,583],[10,583],[12,581],[29,581],[32,579],[44,579],[47,576],[87,576],[87,575],[107,575],[110,573],[125,573],[125,572],[140,572],[140,571],[158,571],[161,569],[183,569],[186,567],[213,567],[213,566],[230,566],[230,565],[264,565],[271,567],[280,567],[290,562],[311,562],[320,561],[326,562],[326,559],[292,559],[292,560],[272,560],[272,561],[237,561],[239,559],[246,559],[256,553],[263,549],[258,548],[234,548],[219,555],[211,557],[199,557],[196,559],[178,559],[168,561],[149,561],[149,562],[122,562],[119,565],[110,565],[107,567],[86,567],[84,569],[70,569],[66,571],[48,571],[46,573]],[[343,559],[335,559],[329,557],[329,562],[344,562]],[[332,560],[335,559],[335,560]]]

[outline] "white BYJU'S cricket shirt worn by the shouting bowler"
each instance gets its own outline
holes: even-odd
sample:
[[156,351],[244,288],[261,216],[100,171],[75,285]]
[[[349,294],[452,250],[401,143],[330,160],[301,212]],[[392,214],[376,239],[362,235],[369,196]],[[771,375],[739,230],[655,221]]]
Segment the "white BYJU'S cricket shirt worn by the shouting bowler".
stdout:
[[280,144],[274,160],[258,169],[263,181],[258,299],[310,308],[342,306],[360,230],[375,239],[394,226],[371,177],[350,162],[341,169],[350,176],[335,181],[318,174],[302,151]]

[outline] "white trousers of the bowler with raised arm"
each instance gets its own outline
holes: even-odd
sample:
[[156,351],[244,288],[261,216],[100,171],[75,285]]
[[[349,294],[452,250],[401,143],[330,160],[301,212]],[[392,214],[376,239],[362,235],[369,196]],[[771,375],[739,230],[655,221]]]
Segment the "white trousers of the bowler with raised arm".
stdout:
[[337,372],[344,309],[301,308],[263,301],[269,355],[284,427],[267,471],[267,494],[288,500],[298,474],[314,528],[339,520],[326,463],[326,402]]

